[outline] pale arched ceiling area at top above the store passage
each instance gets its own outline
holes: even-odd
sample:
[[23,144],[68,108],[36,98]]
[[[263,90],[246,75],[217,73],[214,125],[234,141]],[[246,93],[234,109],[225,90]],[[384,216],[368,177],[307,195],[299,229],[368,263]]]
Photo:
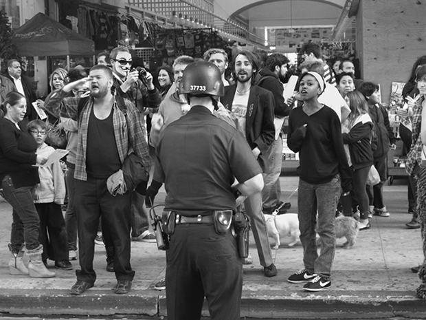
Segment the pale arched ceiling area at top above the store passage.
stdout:
[[214,0],[224,17],[241,15],[249,28],[310,28],[337,24],[346,0]]

